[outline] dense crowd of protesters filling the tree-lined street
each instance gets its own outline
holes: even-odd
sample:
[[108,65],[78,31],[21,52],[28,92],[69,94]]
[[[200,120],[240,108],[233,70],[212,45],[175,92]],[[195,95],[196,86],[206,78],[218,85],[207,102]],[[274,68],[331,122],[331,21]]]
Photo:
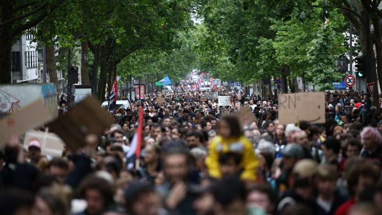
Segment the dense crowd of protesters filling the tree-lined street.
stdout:
[[[0,153],[1,214],[382,214],[382,127],[375,107],[365,113],[363,95],[327,92],[324,124],[282,125],[274,95],[225,88],[218,95],[230,106],[219,106],[217,97],[201,101],[207,93],[130,101],[110,111],[115,124],[61,157],[10,134]],[[255,122],[236,117],[245,106]],[[130,165],[140,109],[142,151]]]

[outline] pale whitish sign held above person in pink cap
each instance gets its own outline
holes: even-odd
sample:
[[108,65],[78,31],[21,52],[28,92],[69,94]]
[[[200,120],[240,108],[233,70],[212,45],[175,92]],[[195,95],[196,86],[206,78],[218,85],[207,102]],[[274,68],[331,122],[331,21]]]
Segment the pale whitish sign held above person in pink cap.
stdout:
[[25,133],[24,147],[32,140],[40,142],[41,153],[52,157],[61,157],[64,149],[64,141],[54,133],[48,133],[37,130],[29,130]]

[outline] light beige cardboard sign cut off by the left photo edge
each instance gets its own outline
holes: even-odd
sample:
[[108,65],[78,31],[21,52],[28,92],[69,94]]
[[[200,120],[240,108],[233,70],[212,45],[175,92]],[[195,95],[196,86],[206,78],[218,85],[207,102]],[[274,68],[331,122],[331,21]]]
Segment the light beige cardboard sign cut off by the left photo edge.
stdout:
[[0,148],[5,144],[5,136],[13,132],[23,134],[28,129],[41,126],[52,120],[53,116],[49,109],[44,106],[43,100],[37,100],[34,103],[20,109],[15,114],[10,114],[0,121]]

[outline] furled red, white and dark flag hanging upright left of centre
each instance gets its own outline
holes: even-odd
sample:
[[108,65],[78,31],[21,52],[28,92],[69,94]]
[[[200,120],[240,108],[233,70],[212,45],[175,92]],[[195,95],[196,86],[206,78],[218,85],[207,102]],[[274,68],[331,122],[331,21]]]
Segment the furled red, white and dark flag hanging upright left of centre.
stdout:
[[126,154],[127,169],[139,168],[139,158],[141,156],[141,143],[143,131],[143,108],[139,108],[138,114],[138,128],[135,130],[133,139],[130,143],[130,151]]

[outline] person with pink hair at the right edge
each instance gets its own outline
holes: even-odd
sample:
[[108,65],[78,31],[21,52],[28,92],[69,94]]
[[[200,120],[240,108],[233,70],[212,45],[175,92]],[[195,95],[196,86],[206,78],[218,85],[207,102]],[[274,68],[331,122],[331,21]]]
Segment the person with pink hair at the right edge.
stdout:
[[361,132],[363,151],[360,157],[363,159],[380,162],[382,154],[381,142],[382,135],[376,128],[364,128]]

